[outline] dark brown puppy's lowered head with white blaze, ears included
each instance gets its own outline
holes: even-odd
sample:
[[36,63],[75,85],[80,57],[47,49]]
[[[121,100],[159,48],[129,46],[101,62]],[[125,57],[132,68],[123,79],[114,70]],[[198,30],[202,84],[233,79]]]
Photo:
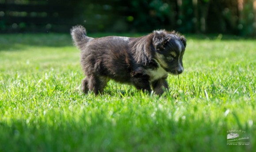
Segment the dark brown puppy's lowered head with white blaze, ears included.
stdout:
[[153,31],[154,58],[167,72],[180,74],[183,72],[182,58],[186,47],[186,39],[175,31]]

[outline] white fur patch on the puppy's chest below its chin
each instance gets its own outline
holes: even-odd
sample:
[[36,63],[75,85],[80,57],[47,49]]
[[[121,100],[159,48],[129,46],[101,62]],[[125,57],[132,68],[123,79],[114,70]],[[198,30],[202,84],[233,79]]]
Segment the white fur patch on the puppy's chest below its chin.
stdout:
[[168,72],[166,72],[158,62],[157,62],[157,65],[158,65],[157,69],[154,69],[154,70],[147,69],[146,70],[146,73],[150,76],[150,79],[149,79],[150,83],[152,83],[153,81],[158,80],[162,77],[168,76]]

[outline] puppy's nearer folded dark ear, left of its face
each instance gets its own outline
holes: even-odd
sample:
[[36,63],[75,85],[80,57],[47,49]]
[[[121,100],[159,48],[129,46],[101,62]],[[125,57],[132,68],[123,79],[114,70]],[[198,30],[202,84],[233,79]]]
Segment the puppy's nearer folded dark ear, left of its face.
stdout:
[[159,49],[164,49],[164,44],[170,40],[170,37],[167,36],[165,30],[155,30],[153,31],[153,45],[154,47]]

